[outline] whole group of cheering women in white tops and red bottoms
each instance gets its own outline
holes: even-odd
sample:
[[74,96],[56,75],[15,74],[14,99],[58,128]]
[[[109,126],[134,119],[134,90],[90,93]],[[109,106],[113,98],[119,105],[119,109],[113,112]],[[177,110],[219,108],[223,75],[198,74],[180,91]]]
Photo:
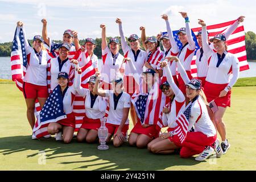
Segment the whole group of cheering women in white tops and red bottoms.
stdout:
[[[238,59],[227,51],[226,40],[243,22],[244,16],[228,27],[225,34],[209,39],[206,24],[199,19],[202,30],[197,34],[201,48],[196,52],[197,78],[191,75],[191,61],[195,53],[187,13],[180,12],[185,27],[177,33],[182,43],[179,49],[167,15],[167,34],[146,39],[146,29],[140,27],[141,39],[132,34],[126,41],[122,20],[117,18],[124,55],[119,53],[118,38],[106,40],[106,26],[102,30],[102,68],[93,53],[96,41],[87,38],[79,44],[76,31],[65,30],[63,42],[55,43],[47,36],[47,20],[43,19],[42,36],[36,35],[30,46],[26,42],[28,57],[27,73],[24,76],[23,94],[27,104],[27,119],[32,129],[35,125],[34,104],[38,99],[43,108],[52,92],[60,92],[66,118],[48,125],[48,133],[56,134],[56,140],[71,142],[75,129],[73,101],[75,96],[84,98],[85,117],[77,133],[79,142],[97,142],[97,130],[101,119],[109,108],[106,118],[107,142],[113,137],[113,144],[119,147],[125,142],[129,129],[129,111],[134,128],[128,142],[138,148],[147,147],[154,154],[179,153],[181,158],[200,154],[196,160],[205,160],[215,151],[217,157],[225,154],[230,144],[226,139],[223,116],[230,107],[232,86],[239,75]],[[18,22],[17,26],[23,26]],[[142,41],[145,51],[140,47]],[[164,51],[160,49],[162,42]],[[75,56],[79,55],[79,56]],[[78,60],[76,60],[80,57]],[[75,59],[74,59],[75,58]],[[82,81],[84,65],[91,61],[94,72],[88,81]],[[230,80],[230,75],[233,77]],[[158,94],[155,94],[158,93]],[[135,102],[131,97],[137,96]],[[153,98],[155,97],[156,98]],[[166,101],[162,104],[162,100]],[[152,108],[152,100],[161,102]],[[209,102],[214,101],[217,111],[213,113]],[[131,104],[132,103],[132,104]],[[175,129],[176,118],[187,108],[189,124],[185,140],[181,142]],[[150,117],[148,110],[155,109],[156,117]],[[160,119],[160,126],[167,127],[161,133],[152,119]],[[217,131],[222,142],[217,139]],[[32,138],[35,138],[32,135]]]

